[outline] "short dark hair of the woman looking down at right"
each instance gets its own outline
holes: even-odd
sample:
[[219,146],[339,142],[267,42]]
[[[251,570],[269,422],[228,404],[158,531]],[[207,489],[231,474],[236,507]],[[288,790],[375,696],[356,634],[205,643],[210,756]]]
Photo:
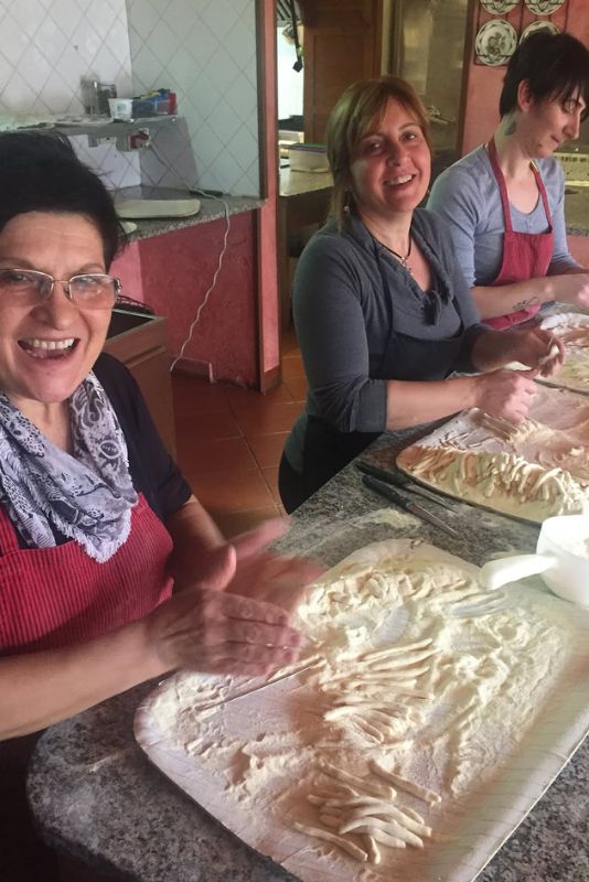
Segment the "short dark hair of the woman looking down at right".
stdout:
[[589,108],[589,51],[571,34],[537,31],[510,58],[499,101],[500,116],[517,108],[517,87],[526,80],[534,101],[568,100],[579,90]]

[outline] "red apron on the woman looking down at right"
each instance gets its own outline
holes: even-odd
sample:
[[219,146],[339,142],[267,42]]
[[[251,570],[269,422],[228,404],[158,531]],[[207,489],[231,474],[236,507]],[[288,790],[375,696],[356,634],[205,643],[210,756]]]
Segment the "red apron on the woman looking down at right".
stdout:
[[[540,174],[534,163],[532,163],[532,171],[536,178],[549,229],[547,233],[515,233],[512,226],[507,186],[503,172],[499,166],[497,151],[493,138],[489,141],[489,159],[501,193],[503,218],[505,223],[503,262],[501,263],[499,276],[492,283],[492,287],[511,284],[512,282],[525,282],[528,279],[537,279],[542,276],[546,276],[548,267],[550,266],[550,260],[553,259],[554,234],[550,207]],[[514,324],[520,324],[520,322],[525,322],[526,319],[531,319],[537,313],[540,305],[540,303],[537,303],[536,305],[527,306],[525,310],[511,312],[508,315],[499,315],[496,319],[484,319],[483,321],[496,331],[503,331],[505,327],[511,327]]]

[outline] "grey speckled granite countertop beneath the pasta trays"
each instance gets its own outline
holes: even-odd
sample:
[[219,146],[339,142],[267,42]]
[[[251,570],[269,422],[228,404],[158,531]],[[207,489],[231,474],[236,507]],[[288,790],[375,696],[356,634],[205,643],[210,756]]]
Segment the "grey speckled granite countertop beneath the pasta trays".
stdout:
[[[375,461],[422,434],[387,434],[371,448]],[[456,503],[460,538],[422,524],[393,528],[371,521],[383,499],[366,490],[353,465],[336,475],[292,518],[283,551],[335,563],[371,541],[420,536],[482,563],[493,552],[535,549],[537,528]],[[43,836],[55,848],[115,879],[135,882],[285,882],[293,878],[194,804],[137,746],[133,713],[154,687],[144,684],[72,720],[39,741],[29,798]],[[478,876],[478,882],[580,882],[589,879],[589,742]],[[321,882],[321,880],[317,880]],[[408,879],[407,882],[419,882]]]

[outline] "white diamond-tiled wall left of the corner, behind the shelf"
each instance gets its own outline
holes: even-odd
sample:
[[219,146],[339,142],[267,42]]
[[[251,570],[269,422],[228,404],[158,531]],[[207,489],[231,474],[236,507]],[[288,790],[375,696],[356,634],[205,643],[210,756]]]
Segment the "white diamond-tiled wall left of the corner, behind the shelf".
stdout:
[[[79,80],[89,73],[130,94],[131,56],[125,0],[0,0],[0,115],[83,112]],[[133,153],[113,144],[88,150],[84,161],[110,186],[139,182]]]

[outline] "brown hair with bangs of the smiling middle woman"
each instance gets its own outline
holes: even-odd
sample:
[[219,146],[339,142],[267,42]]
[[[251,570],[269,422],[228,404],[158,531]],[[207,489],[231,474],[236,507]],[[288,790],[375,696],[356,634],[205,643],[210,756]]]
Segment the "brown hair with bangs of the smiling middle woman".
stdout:
[[389,98],[398,101],[421,129],[428,147],[429,122],[421,100],[409,83],[397,76],[361,79],[346,88],[330,114],[326,129],[328,158],[333,174],[331,213],[338,226],[345,226],[344,207],[350,194],[350,168],[354,151],[375,117],[382,118]]

